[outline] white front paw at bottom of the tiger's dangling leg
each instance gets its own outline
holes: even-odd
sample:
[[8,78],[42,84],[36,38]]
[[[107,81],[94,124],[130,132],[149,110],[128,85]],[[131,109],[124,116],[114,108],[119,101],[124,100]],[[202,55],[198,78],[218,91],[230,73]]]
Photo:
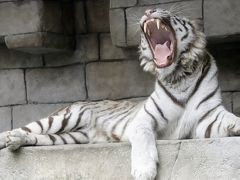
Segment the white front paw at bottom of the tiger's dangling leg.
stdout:
[[131,174],[135,180],[154,180],[157,175],[157,164],[152,161],[132,165]]

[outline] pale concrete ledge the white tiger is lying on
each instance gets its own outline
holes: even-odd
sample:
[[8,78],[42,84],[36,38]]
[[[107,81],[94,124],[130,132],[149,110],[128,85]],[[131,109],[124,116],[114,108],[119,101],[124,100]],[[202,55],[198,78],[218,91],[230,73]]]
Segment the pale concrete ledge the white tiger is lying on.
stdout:
[[[240,179],[240,138],[158,141],[158,178]],[[132,179],[128,143],[0,151],[0,179]]]

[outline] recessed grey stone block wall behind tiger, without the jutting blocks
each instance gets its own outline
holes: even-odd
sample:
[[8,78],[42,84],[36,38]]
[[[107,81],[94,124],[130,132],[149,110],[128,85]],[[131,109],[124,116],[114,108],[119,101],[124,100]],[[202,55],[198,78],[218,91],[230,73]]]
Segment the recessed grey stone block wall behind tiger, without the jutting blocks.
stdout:
[[[122,1],[112,1],[111,6],[114,2]],[[4,3],[16,5],[14,1],[0,1],[0,20]],[[146,97],[151,93],[154,80],[139,67],[136,47],[124,49],[112,44],[109,4],[109,0],[73,1],[74,51],[34,55],[10,50],[1,41],[0,131],[38,120],[75,101],[118,100]],[[122,9],[132,11],[122,6],[116,11]],[[28,20],[28,16],[24,18]],[[42,50],[39,47],[38,51]],[[209,46],[220,67],[225,105],[240,115],[238,47],[238,42]]]

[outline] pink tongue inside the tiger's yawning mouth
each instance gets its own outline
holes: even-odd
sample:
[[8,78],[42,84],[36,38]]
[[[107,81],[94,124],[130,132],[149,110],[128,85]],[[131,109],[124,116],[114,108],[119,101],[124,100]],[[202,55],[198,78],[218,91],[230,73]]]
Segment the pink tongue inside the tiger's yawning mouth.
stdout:
[[154,58],[155,63],[159,67],[164,67],[168,65],[168,56],[171,55],[171,50],[169,49],[169,41],[166,41],[164,44],[157,44],[154,49]]

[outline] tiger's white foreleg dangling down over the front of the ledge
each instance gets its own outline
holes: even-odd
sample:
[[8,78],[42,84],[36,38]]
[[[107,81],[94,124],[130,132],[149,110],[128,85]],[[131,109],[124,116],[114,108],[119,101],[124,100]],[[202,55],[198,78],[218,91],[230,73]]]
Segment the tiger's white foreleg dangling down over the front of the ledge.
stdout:
[[135,180],[153,180],[156,177],[158,163],[157,127],[156,119],[142,110],[127,129],[127,136],[132,146],[131,174]]

